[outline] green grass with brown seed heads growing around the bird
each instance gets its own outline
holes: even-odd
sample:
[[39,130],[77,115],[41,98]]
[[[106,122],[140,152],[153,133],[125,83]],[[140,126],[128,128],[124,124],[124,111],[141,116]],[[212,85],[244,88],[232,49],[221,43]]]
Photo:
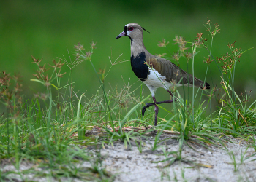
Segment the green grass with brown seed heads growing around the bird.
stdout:
[[[205,80],[211,79],[208,76],[211,65],[220,61],[222,67],[218,67],[218,71],[222,87],[217,89],[211,86],[210,91],[181,87],[178,89],[183,91],[181,94],[174,86],[171,91],[176,101],[172,104],[172,109],[159,106],[167,115],[158,119],[157,127],[150,127],[148,130],[126,131],[125,129],[146,128],[148,125],[153,125],[154,109],[148,108],[146,116],[141,116],[141,108],[149,101],[150,95],[143,94],[141,85],[131,90],[129,82],[116,87],[110,85],[110,89],[107,90],[106,77],[111,74],[113,66],[122,62],[118,59],[115,61],[110,59],[111,67],[108,71],[97,71],[93,60],[96,46],[94,42],[91,43],[91,50],[85,52],[83,45],[78,44],[75,46],[75,52],[68,52],[68,59],[53,60],[50,65],[43,63],[42,59],[32,57],[37,70],[34,73],[35,79],[31,79],[31,84],[42,85],[45,92],[35,92],[36,94],[31,95],[30,98],[20,95],[21,90],[26,90],[27,86],[22,87],[18,76],[10,76],[2,72],[0,99],[6,110],[0,116],[0,158],[10,160],[18,172],[3,173],[0,170],[1,181],[9,179],[8,174],[11,173],[18,173],[20,176],[32,173],[56,179],[65,177],[86,181],[113,181],[114,175],[110,175],[102,167],[99,150],[93,154],[86,148],[95,146],[100,149],[105,144],[113,145],[115,141],[123,141],[124,146],[129,147],[131,141],[135,141],[141,152],[142,141],[138,138],[147,139],[148,132],[157,133],[152,151],[161,147],[163,132],[176,134],[174,138],[179,141],[178,151],[164,151],[168,165],[172,165],[175,161],[189,161],[182,157],[184,143],[187,145],[191,142],[199,143],[207,147],[208,144],[222,143],[222,136],[233,135],[247,138],[255,147],[253,136],[256,100],[250,100],[249,92],[240,94],[234,90],[236,64],[246,51],[236,49],[234,44],[228,44],[231,53],[225,55],[224,52],[225,56],[219,55],[218,59],[214,59],[216,55],[212,55],[211,47],[219,28],[215,25],[212,30],[210,21],[207,21],[206,28],[211,37],[210,43],[207,43],[200,33],[197,33],[193,42],[187,42],[181,36],[176,36],[178,52],[172,58],[178,63],[187,61],[188,69],[189,62],[192,61],[192,74],[194,74],[194,60],[197,54],[200,54],[198,49],[206,49],[208,55],[205,60],[207,63]],[[160,45],[167,47],[165,41]],[[192,46],[191,52],[187,50],[190,46]],[[86,92],[75,90],[76,81],[72,79],[75,68],[84,61],[91,63],[91,69],[95,74],[94,84],[99,86],[91,98],[87,98]],[[68,66],[69,73],[61,71],[64,65]],[[67,80],[65,83],[61,82],[64,76]],[[136,90],[140,90],[140,95],[135,95]],[[216,106],[213,103],[216,103]],[[92,127],[101,128],[103,135],[87,136],[86,133],[89,133]],[[233,154],[230,153],[230,157],[232,158]],[[236,170],[236,160],[233,159]],[[49,173],[34,170],[20,171],[20,164],[24,161],[37,164],[38,167],[47,167]],[[91,167],[79,167],[83,162],[88,162]]]

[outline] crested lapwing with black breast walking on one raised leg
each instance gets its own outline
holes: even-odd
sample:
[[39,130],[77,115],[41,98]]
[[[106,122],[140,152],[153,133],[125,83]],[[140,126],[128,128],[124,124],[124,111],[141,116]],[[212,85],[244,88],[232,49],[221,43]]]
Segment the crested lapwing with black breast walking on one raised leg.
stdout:
[[[146,103],[141,112],[144,116],[146,108],[154,106],[154,126],[157,126],[157,115],[159,111],[157,105],[173,103],[173,93],[169,90],[173,84],[175,84],[176,87],[186,84],[189,87],[193,87],[194,84],[195,87],[200,87],[200,89],[210,89],[210,84],[197,79],[195,76],[192,76],[192,74],[188,74],[186,71],[176,66],[176,64],[170,62],[170,60],[151,55],[151,53],[146,50],[143,43],[143,30],[146,31],[146,29],[142,28],[138,23],[129,23],[124,26],[124,31],[116,36],[116,39],[122,36],[128,36],[131,41],[132,71],[140,81],[146,84],[153,98],[153,103]],[[155,93],[159,87],[167,90],[172,96],[172,99],[157,102]]]

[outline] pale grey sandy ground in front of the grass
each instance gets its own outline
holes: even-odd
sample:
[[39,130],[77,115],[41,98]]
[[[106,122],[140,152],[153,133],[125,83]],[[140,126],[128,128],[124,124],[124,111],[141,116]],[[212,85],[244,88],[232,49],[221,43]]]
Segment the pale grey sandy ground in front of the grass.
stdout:
[[[159,148],[152,151],[154,137],[149,137],[141,142],[142,148],[138,150],[135,141],[131,141],[131,146],[127,149],[123,142],[116,142],[113,146],[105,146],[101,149],[103,165],[106,170],[116,176],[116,182],[122,181],[256,181],[256,157],[251,156],[255,153],[253,148],[246,148],[248,144],[245,141],[236,138],[231,139],[233,143],[225,143],[227,149],[223,146],[198,146],[190,143],[194,148],[184,145],[181,159],[172,165],[167,162],[158,162],[173,154],[167,154],[170,151],[178,151],[178,141],[170,139],[170,135],[162,135],[161,139],[166,139],[159,143]],[[86,149],[94,150],[94,149]],[[229,153],[233,152],[236,157],[236,168]],[[244,162],[241,163],[241,154],[244,155]],[[158,162],[158,163],[154,163]],[[89,162],[81,162],[80,166],[89,166]],[[6,173],[15,170],[12,164],[1,162],[1,171]],[[22,162],[20,170],[45,170],[29,162]],[[47,173],[47,172],[46,172]],[[11,174],[10,177],[15,181],[56,181],[53,178],[38,178],[33,174],[20,175]],[[61,181],[81,181],[77,178],[62,178]]]

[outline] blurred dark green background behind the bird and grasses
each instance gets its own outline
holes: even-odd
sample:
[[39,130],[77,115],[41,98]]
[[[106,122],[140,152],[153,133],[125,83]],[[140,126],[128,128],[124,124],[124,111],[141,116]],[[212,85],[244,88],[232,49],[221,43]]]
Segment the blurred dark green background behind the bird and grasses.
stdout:
[[[151,33],[144,33],[144,43],[152,54],[170,54],[177,51],[173,44],[176,35],[193,41],[197,33],[202,32],[208,38],[204,27],[207,18],[219,24],[220,33],[214,37],[212,54],[214,58],[230,52],[229,42],[236,41],[236,47],[247,50],[255,47],[256,41],[256,3],[255,1],[1,1],[0,2],[0,71],[22,76],[23,92],[31,95],[42,89],[41,85],[29,81],[37,66],[31,64],[31,55],[43,58],[44,63],[53,59],[69,60],[67,49],[74,52],[74,44],[84,44],[90,50],[90,42],[97,41],[92,61],[97,71],[110,68],[110,60],[129,60],[130,43],[127,37],[116,40],[116,36],[127,23],[139,23]],[[158,41],[165,38],[170,41],[167,50],[157,47]],[[204,57],[208,52],[201,48],[195,57],[195,76],[203,79],[206,74]],[[256,53],[255,49],[245,52],[236,65],[236,91],[256,90]],[[174,62],[174,61],[173,61]],[[174,62],[175,63],[175,62]],[[189,64],[191,67],[191,63]],[[222,64],[220,63],[219,66]],[[187,70],[186,60],[181,60],[181,68]],[[64,66],[62,72],[69,72]],[[191,71],[191,69],[190,69]],[[132,72],[129,62],[120,63],[111,68],[105,83],[115,87],[124,82],[136,82],[132,89],[140,85]],[[66,83],[67,76],[62,84]],[[88,61],[75,68],[72,73],[75,90],[86,92],[90,98],[99,82]],[[220,82],[220,74],[215,63],[210,64],[206,81],[211,86]],[[119,87],[119,86],[118,86]],[[144,95],[149,91],[146,86]],[[138,90],[138,93],[140,90]],[[157,100],[166,100],[165,90],[157,91]]]

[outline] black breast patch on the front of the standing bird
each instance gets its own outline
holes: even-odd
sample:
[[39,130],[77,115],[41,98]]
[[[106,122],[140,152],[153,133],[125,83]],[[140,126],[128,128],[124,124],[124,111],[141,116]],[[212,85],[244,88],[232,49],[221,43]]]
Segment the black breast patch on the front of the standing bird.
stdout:
[[145,52],[141,52],[139,55],[134,57],[131,56],[131,66],[132,71],[141,81],[145,81],[148,78],[150,72],[148,71],[148,66],[146,65],[146,55]]

